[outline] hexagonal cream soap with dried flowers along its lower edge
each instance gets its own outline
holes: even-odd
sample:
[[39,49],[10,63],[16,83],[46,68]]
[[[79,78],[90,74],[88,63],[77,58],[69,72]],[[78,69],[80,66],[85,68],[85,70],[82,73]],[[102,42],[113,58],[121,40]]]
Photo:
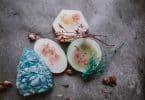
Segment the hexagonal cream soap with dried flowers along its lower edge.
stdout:
[[56,39],[60,42],[71,42],[82,37],[88,31],[88,23],[79,10],[62,10],[53,22]]

